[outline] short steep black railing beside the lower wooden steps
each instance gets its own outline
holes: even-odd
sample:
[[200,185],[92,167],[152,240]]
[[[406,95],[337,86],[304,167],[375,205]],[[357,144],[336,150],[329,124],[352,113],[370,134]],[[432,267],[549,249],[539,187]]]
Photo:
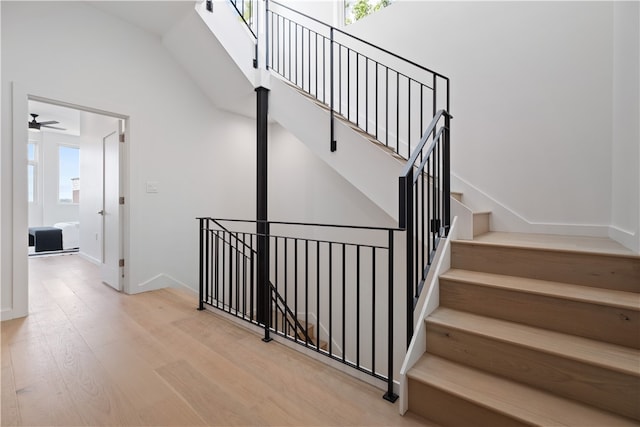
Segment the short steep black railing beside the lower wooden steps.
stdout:
[[446,111],[437,112],[399,179],[399,226],[407,244],[407,346],[415,304],[451,224],[450,120]]

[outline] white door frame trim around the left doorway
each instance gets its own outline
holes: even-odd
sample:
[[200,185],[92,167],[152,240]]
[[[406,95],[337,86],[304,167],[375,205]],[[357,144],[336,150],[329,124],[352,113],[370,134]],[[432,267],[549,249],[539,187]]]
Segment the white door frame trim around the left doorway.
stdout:
[[[99,107],[88,107],[88,104],[93,104],[92,101],[87,100],[75,100],[68,99],[64,94],[54,94],[50,90],[36,90],[30,88],[29,90],[21,87],[18,83],[12,82],[11,85],[11,106],[12,106],[12,210],[11,210],[11,223],[12,223],[12,236],[11,236],[11,299],[12,304],[10,309],[3,310],[2,320],[13,319],[17,317],[24,317],[29,314],[29,267],[28,267],[28,212],[29,202],[27,200],[27,164],[25,159],[27,158],[27,144],[25,141],[28,139],[28,129],[25,124],[25,120],[29,117],[28,101],[40,101],[49,104],[59,105],[62,107],[74,108],[81,111],[87,111],[96,114],[102,114],[105,116],[114,117],[124,120],[125,126],[125,141],[126,144],[122,147],[122,157],[120,164],[120,179],[122,180],[122,189],[127,203],[123,206],[121,221],[122,221],[122,234],[120,236],[120,245],[123,248],[123,257],[126,260],[130,259],[130,163],[129,163],[129,145],[131,142],[129,129],[130,129],[130,117],[122,113],[114,113],[107,109]],[[4,240],[4,239],[3,239]],[[125,264],[126,265],[126,264]],[[123,278],[122,288],[125,293],[130,293],[130,265],[125,267],[125,277]],[[4,305],[4,304],[3,304]]]

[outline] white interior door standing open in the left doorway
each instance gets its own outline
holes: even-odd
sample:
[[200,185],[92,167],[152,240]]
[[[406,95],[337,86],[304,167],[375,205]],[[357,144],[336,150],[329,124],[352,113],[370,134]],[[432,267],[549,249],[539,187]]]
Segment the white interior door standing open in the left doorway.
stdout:
[[112,132],[102,139],[102,281],[122,290],[122,224],[120,205],[120,138]]

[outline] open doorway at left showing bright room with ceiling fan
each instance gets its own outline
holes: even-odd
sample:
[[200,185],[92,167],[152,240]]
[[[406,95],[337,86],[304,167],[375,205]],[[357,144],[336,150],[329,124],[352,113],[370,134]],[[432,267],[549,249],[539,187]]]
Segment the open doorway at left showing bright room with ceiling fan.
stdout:
[[28,107],[30,256],[77,251],[121,291],[124,119],[32,99]]

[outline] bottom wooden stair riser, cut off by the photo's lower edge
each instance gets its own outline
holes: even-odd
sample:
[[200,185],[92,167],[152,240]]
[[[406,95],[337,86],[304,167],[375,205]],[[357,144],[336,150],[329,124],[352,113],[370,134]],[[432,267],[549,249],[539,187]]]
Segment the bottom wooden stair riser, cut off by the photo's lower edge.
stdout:
[[529,425],[413,379],[409,379],[409,410],[441,426]]

